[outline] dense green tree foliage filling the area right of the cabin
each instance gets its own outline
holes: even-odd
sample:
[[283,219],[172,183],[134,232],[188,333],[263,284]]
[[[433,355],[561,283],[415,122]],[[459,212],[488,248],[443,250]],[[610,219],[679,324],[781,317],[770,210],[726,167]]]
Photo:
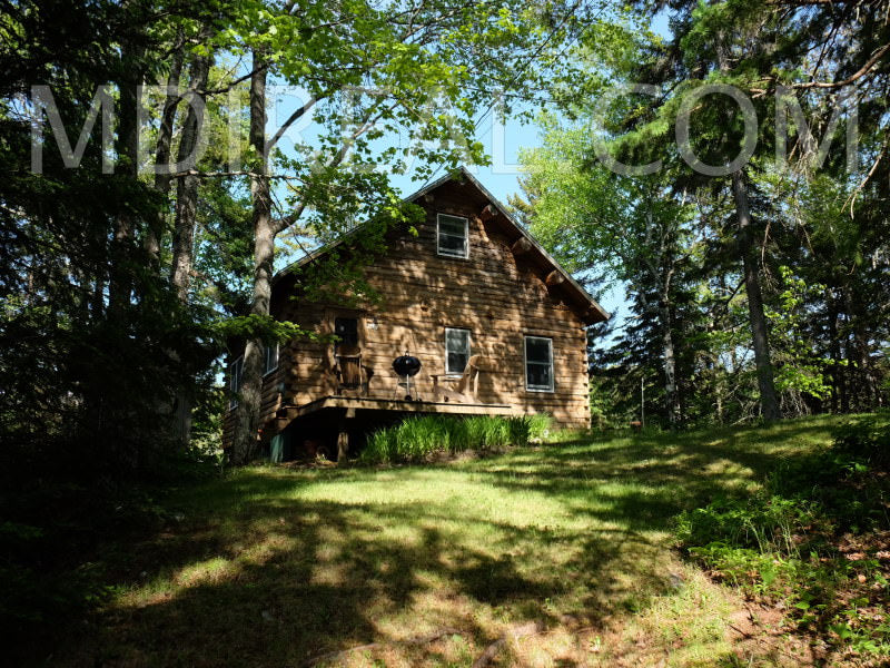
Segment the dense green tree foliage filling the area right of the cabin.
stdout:
[[[886,405],[886,6],[634,4],[581,41],[586,76],[554,86],[513,203],[592,289],[626,288],[621,328],[592,337],[600,420]],[[661,32],[632,22],[654,9]]]

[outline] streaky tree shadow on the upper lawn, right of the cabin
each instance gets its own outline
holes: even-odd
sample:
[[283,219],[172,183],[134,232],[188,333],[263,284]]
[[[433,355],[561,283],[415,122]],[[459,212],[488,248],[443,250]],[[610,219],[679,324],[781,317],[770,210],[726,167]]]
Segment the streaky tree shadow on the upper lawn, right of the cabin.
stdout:
[[[780,463],[809,458],[812,448],[798,442],[827,443],[827,435],[813,438],[814,425],[823,422],[570,441],[483,460],[472,469],[508,490],[535,490],[581,502],[610,497],[607,511],[591,510],[587,503],[574,509],[632,529],[657,530],[668,528],[665,522],[682,510],[744,493]],[[779,443],[792,446],[775,448]]]

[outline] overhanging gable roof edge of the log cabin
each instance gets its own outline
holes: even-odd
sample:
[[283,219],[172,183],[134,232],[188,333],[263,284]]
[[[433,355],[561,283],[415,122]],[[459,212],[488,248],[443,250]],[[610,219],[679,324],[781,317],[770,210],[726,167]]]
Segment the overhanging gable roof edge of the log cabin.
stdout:
[[[468,181],[469,184],[475,187],[479,194],[487,199],[496,209],[497,213],[501,214],[498,218],[503,218],[502,226],[506,228],[507,232],[513,233],[511,236],[515,236],[514,243],[518,238],[527,239],[531,246],[531,250],[528,255],[537,261],[537,264],[547,269],[547,272],[555,271],[558,275],[563,278],[563,284],[561,288],[567,291],[572,301],[574,302],[575,306],[578,307],[578,311],[582,312],[582,321],[585,324],[594,324],[607,321],[611,316],[610,314],[602,307],[600,304],[594,299],[586,289],[584,289],[581,284],[575,281],[572,275],[566,272],[553,256],[550,255],[542,246],[537,243],[537,240],[526,230],[524,229],[515,218],[510,214],[510,212],[501,204],[497,198],[492,195],[485,186],[483,186],[476,177],[474,177],[465,167],[461,167],[457,177],[454,173],[446,174],[445,176],[436,179],[435,181],[431,183],[427,186],[424,186],[416,193],[413,193],[408,197],[406,197],[403,202],[413,203],[416,199],[419,199],[424,195],[431,194],[433,190],[439,188],[441,186],[449,183],[449,181]],[[359,226],[360,227],[360,226]],[[325,255],[333,248],[336,248],[349,240],[352,236],[356,234],[358,230],[354,228],[349,233],[343,235],[336,242],[327,244],[326,246],[322,246],[316,250],[312,250],[307,253],[305,256],[300,257],[298,261],[289,264],[284,269],[278,272],[275,277],[273,278],[273,285],[280,281],[285,275],[289,274],[293,269],[297,269],[303,267],[314,259]]]

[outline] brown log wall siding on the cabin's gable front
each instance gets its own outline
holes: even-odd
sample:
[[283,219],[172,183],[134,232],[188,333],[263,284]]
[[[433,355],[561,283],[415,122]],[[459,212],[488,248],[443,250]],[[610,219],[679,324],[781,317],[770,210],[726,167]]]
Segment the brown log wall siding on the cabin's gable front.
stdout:
[[[365,277],[383,301],[366,310],[296,302],[279,294],[293,291],[293,281],[276,285],[273,308],[307,330],[332,334],[334,318],[358,318],[363,364],[373,370],[369,396],[393,399],[397,376],[393,360],[408,351],[423,369],[413,379],[422,399],[433,399],[432,374],[445,373],[445,328],[469,330],[472,354],[485,369],[477,401],[508,404],[524,413],[546,412],[562,426],[590,423],[586,333],[577,306],[570,306],[560,285],[547,286],[552,267],[536,266],[511,246],[518,232],[503,216],[483,222],[478,214],[487,199],[472,184],[446,183],[418,202],[426,219],[417,236],[394,235],[387,252],[365,268]],[[469,256],[436,252],[436,216],[451,214],[469,220]],[[512,232],[512,234],[511,234]],[[525,387],[524,336],[553,340],[554,391]],[[263,420],[283,405],[303,405],[335,394],[332,344],[291,341],[283,344],[278,369],[264,382]],[[278,387],[284,384],[285,392]],[[404,394],[404,392],[402,392]],[[233,412],[227,414],[230,428]],[[228,431],[228,430],[227,430]]]

